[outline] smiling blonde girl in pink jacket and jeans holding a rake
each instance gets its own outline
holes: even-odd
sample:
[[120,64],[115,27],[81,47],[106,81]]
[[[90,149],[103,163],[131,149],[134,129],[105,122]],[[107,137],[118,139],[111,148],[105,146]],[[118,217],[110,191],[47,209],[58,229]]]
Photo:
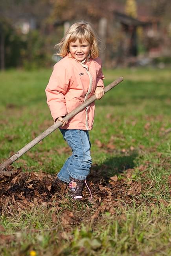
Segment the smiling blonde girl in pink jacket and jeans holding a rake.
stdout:
[[94,122],[94,102],[69,121],[63,117],[92,95],[97,100],[103,97],[104,76],[96,33],[90,23],[74,23],[55,48],[63,58],[54,65],[46,87],[47,104],[54,121],[63,122],[60,130],[72,149],[72,156],[57,174],[57,185],[69,184],[69,195],[80,200],[92,164],[88,131]]

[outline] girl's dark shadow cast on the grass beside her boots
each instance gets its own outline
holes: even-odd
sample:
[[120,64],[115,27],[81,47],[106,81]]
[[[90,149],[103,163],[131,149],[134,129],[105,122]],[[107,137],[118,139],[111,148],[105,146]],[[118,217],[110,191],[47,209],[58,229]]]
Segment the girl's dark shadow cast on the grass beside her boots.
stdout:
[[115,156],[110,157],[105,160],[100,165],[93,164],[89,179],[93,183],[99,182],[100,180],[107,181],[110,177],[123,173],[127,169],[132,169],[135,167],[135,159],[138,157],[137,152],[132,152],[128,156]]

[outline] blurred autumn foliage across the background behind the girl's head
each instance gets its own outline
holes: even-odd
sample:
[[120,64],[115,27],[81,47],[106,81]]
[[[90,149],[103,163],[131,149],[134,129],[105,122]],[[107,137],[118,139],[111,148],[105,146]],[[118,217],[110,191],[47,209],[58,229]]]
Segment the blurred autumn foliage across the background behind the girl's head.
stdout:
[[[148,12],[146,16],[141,13],[143,8]],[[30,69],[50,66],[52,64],[51,57],[55,53],[53,46],[63,36],[63,22],[88,20],[94,24],[98,32],[98,22],[101,17],[107,18],[109,24],[114,22],[114,10],[125,11],[134,18],[140,16],[146,20],[159,20],[160,31],[167,35],[167,42],[163,40],[162,33],[153,38],[145,38],[141,32],[141,36],[139,36],[140,53],[145,54],[151,47],[164,44],[169,47],[170,8],[168,0],[107,0],[105,2],[103,0],[2,0],[0,2],[0,42],[2,43],[4,40],[5,43],[4,67]],[[22,32],[23,22],[31,22],[32,27],[28,33]],[[122,31],[108,28],[105,54],[108,56],[110,64],[112,59],[118,58],[117,54],[120,54],[117,53],[118,47],[123,40],[127,39],[123,38]]]

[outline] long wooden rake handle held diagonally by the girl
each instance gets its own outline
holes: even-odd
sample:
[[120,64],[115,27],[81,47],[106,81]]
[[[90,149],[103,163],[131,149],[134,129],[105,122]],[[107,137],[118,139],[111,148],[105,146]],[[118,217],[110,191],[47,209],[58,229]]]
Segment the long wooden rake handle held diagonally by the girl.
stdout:
[[[118,85],[120,82],[123,81],[123,77],[121,76],[120,78],[118,78],[117,80],[115,80],[114,82],[110,83],[109,85],[107,85],[104,89],[105,93],[107,93],[108,91],[110,91],[112,88],[114,88],[116,85]],[[84,108],[86,108],[89,104],[91,104],[92,102],[94,102],[96,100],[96,96],[93,95],[92,97],[88,98],[87,100],[85,100],[85,102],[83,102],[80,106],[78,106],[77,108],[75,108],[73,111],[71,111],[68,115],[66,115],[63,119],[64,120],[70,120],[72,117],[74,117],[77,113],[79,113],[81,110],[83,110]],[[37,143],[39,143],[40,141],[42,141],[42,139],[44,139],[46,136],[48,136],[49,134],[51,134],[52,132],[54,132],[57,128],[61,127],[63,125],[63,122],[61,121],[57,121],[55,122],[55,124],[53,124],[52,126],[50,126],[48,129],[46,129],[44,132],[42,132],[42,134],[40,134],[39,136],[37,136],[35,139],[33,139],[32,141],[30,141],[26,146],[24,146],[23,148],[21,148],[16,154],[14,154],[13,156],[11,156],[10,158],[8,158],[4,163],[2,163],[0,165],[0,174],[5,175],[5,176],[11,176],[11,174],[13,174],[13,171],[5,171],[7,165],[11,165],[13,162],[15,162],[18,158],[20,158],[23,154],[25,154],[28,150],[30,150],[31,148],[33,148]]]

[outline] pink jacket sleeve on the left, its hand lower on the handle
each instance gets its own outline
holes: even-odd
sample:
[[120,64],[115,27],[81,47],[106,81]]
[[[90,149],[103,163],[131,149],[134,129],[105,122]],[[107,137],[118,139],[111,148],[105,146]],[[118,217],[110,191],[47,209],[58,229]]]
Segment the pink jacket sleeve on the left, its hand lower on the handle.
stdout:
[[61,66],[59,62],[54,65],[49,83],[45,89],[47,104],[54,121],[58,117],[64,117],[67,114],[64,95],[68,89],[69,78],[66,68]]

